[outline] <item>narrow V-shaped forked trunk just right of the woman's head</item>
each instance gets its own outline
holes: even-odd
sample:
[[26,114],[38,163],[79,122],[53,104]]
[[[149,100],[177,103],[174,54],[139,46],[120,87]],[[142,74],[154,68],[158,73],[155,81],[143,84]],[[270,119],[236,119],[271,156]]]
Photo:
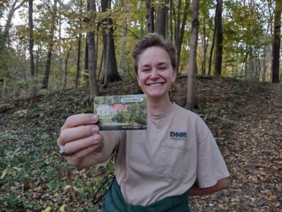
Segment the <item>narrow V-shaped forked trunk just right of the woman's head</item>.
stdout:
[[177,49],[177,73],[179,73],[179,59],[180,59],[180,52],[181,52],[181,45],[183,41],[183,36],[184,36],[184,31],[185,31],[185,25],[186,25],[186,20],[188,16],[188,9],[189,9],[189,3],[190,1],[185,0],[185,8],[183,12],[183,18],[182,18],[182,23],[180,27],[180,12],[181,12],[181,0],[178,0],[177,4],[177,17],[176,17],[176,25],[175,25],[175,38],[174,38],[174,44]]

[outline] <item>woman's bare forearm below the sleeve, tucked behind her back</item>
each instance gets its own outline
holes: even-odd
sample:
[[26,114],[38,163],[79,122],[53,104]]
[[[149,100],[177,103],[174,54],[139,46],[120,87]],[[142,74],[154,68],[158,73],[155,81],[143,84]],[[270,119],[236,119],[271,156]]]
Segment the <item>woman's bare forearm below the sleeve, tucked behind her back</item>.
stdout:
[[188,190],[189,196],[199,196],[221,191],[228,188],[228,184],[228,177],[220,179],[216,185],[207,188],[199,188],[196,181],[194,185]]

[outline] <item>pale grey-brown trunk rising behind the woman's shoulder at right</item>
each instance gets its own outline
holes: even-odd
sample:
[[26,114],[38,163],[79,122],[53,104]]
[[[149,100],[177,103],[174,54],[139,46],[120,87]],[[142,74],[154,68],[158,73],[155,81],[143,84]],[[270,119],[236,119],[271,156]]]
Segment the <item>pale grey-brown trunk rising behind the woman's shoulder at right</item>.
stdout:
[[199,0],[192,1],[192,16],[191,16],[191,38],[190,38],[190,51],[188,62],[188,83],[187,83],[187,99],[185,108],[193,110],[197,104],[195,94],[195,75],[196,75],[196,57],[197,57],[197,43],[199,31]]

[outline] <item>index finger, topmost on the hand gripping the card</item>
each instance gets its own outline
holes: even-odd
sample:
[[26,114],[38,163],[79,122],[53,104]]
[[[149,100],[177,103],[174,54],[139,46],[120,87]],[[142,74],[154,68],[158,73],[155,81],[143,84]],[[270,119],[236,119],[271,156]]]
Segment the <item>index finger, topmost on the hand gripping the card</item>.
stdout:
[[63,126],[61,127],[61,132],[67,128],[73,128],[81,125],[93,125],[99,121],[98,116],[94,114],[76,114],[68,117]]

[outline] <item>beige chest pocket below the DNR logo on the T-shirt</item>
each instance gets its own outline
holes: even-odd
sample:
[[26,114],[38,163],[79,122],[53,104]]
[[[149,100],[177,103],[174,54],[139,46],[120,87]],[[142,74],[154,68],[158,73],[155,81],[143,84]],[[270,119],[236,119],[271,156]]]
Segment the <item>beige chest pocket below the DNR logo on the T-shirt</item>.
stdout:
[[190,147],[177,144],[163,144],[157,172],[167,178],[180,179],[188,170]]

